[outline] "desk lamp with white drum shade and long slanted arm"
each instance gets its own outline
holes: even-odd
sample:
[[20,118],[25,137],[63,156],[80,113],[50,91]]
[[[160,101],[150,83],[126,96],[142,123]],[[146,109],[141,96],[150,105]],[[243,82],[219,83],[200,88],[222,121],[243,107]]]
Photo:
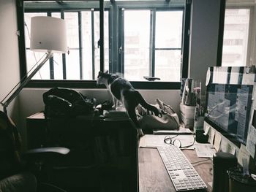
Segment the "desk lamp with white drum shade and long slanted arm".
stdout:
[[67,32],[66,23],[63,19],[38,16],[31,18],[31,40],[30,50],[45,52],[45,58],[31,72],[26,74],[26,78],[18,82],[12,91],[1,101],[4,112],[7,113],[7,107],[10,102],[18,96],[18,93],[34,77],[39,69],[53,56],[53,53],[67,53]]

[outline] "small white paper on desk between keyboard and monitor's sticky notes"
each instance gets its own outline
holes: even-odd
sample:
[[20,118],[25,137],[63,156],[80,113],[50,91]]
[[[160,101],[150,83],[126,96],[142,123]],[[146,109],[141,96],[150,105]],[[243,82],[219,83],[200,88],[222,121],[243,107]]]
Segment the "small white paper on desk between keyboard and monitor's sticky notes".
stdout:
[[216,150],[214,149],[214,146],[211,144],[199,144],[195,145],[195,151],[197,153],[197,157],[200,158],[212,158],[214,153],[216,153]]

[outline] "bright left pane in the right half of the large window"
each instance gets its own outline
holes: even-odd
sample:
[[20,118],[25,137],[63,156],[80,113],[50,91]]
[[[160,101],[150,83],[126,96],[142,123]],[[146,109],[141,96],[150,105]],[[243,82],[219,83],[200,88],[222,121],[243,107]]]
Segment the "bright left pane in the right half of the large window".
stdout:
[[[122,49],[122,47],[120,47]],[[124,11],[124,77],[143,80],[150,70],[150,11]]]

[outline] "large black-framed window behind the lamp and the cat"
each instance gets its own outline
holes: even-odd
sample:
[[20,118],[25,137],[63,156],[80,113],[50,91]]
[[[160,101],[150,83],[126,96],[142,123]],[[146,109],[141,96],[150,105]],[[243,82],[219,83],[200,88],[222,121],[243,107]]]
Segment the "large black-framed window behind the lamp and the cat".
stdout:
[[[97,73],[102,70],[99,2],[25,1],[23,6],[27,71],[43,56],[29,49],[31,17],[47,15],[63,18],[67,23],[69,52],[54,54],[32,80],[45,82],[43,86],[63,81],[86,85],[87,81],[96,80]],[[184,52],[184,45],[188,43],[183,36],[189,22],[184,20],[184,8],[184,0],[176,4],[169,1],[105,1],[104,69],[136,82],[146,82],[144,76],[159,77],[158,82],[168,82],[168,88],[179,88],[181,78],[187,77],[181,72],[181,69],[187,70],[182,55],[188,56]]]

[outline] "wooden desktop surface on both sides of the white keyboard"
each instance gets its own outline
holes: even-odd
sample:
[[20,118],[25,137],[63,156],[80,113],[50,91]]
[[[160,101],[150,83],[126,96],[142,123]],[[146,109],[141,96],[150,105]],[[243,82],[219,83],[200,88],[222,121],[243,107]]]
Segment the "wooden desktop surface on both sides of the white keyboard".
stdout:
[[[157,148],[139,148],[139,188],[140,192],[176,191],[169,174],[165,169]],[[198,158],[195,150],[183,150],[190,162],[204,160],[206,158]],[[206,191],[211,191],[208,182],[212,181],[212,162],[211,160],[201,163],[192,164],[208,186]]]

